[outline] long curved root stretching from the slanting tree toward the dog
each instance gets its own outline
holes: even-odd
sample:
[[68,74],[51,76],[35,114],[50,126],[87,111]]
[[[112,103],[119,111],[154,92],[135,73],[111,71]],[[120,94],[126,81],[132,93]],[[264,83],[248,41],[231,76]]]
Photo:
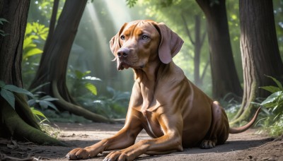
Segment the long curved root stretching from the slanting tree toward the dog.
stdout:
[[86,119],[89,119],[91,121],[95,122],[105,122],[105,123],[113,123],[114,121],[111,119],[108,119],[106,117],[101,116],[100,114],[95,114],[87,109],[84,109],[83,107],[79,107],[77,105],[74,105],[70,102],[67,102],[64,100],[64,98],[60,95],[58,88],[57,88],[57,81],[52,81],[52,92],[54,97],[58,98],[59,100],[56,102],[62,109],[65,109],[73,114],[82,116]]

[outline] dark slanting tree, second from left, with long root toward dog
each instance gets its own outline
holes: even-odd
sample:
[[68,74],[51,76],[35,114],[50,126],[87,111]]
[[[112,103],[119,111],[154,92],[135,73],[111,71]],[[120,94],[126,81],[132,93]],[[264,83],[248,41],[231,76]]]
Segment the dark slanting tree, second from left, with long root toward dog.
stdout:
[[[67,0],[65,2],[54,33],[50,32],[48,35],[45,44],[47,47],[43,51],[40,66],[30,88],[36,88],[43,83],[50,82],[40,91],[46,93],[46,95],[59,98],[55,102],[59,109],[67,110],[93,121],[108,122],[109,119],[76,105],[66,85],[69,54],[86,2],[87,0]],[[54,21],[54,18],[51,22]]]

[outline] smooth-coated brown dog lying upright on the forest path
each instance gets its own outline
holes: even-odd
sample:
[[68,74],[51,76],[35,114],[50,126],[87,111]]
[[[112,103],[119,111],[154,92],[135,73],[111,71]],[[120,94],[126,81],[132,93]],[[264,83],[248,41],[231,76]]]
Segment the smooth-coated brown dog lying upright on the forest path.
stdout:
[[[246,131],[258,116],[238,129],[229,128],[224,109],[185,77],[172,58],[183,40],[163,23],[136,20],[125,23],[112,37],[110,48],[117,69],[133,68],[135,83],[125,126],[112,136],[67,154],[69,160],[95,157],[116,150],[105,160],[134,160],[141,154],[158,155],[200,146],[223,144],[229,133]],[[139,132],[152,139],[134,143]]]

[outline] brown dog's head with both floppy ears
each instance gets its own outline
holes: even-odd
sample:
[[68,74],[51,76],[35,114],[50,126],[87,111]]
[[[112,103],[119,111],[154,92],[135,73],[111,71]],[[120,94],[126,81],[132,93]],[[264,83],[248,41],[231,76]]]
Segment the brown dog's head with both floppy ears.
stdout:
[[163,23],[153,20],[135,20],[125,23],[110,40],[117,69],[143,68],[157,57],[168,64],[177,54],[183,40]]

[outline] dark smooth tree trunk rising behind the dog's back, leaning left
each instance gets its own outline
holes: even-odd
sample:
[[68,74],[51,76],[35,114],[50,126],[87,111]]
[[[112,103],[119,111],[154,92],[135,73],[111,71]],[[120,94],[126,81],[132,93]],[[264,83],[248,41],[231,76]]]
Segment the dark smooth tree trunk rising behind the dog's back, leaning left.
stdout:
[[209,0],[196,0],[207,18],[210,64],[212,68],[212,95],[224,97],[228,93],[242,95],[230,44],[225,0],[212,4]]

